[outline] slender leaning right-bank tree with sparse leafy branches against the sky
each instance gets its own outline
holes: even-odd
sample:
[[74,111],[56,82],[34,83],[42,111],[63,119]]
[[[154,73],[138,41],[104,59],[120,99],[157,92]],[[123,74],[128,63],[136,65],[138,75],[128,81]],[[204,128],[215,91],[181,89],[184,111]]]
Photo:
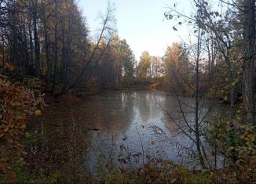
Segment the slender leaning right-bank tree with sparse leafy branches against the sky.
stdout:
[[[234,106],[236,102],[236,85],[235,81],[235,71],[234,62],[231,60],[231,49],[232,49],[232,11],[227,8],[225,15],[221,15],[218,11],[211,11],[210,4],[204,0],[194,0],[194,5],[196,5],[200,16],[187,16],[180,13],[177,7],[169,7],[170,12],[165,13],[167,19],[173,19],[174,17],[185,18],[188,23],[195,23],[201,28],[202,34],[212,34],[210,40],[214,41],[218,47],[219,52],[224,57],[225,62],[228,65],[229,71],[229,98],[230,106]],[[180,22],[181,23],[181,22]],[[177,30],[174,27],[174,30]],[[213,42],[213,43],[214,43]],[[210,61],[210,60],[209,60]]]

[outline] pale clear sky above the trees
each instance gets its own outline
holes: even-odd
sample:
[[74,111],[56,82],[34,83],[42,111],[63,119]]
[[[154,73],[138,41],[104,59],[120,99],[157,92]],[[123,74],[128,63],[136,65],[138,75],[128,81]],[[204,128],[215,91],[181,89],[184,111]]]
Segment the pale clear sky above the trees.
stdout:
[[[188,35],[185,28],[173,30],[177,22],[165,20],[164,13],[167,6],[173,6],[171,0],[112,0],[115,5],[115,18],[119,37],[126,39],[133,50],[136,59],[141,52],[147,50],[151,56],[163,56],[168,45],[181,41]],[[176,1],[179,9],[188,12],[190,1]],[[97,21],[99,13],[104,13],[108,5],[107,0],[79,0],[79,8],[86,16],[91,36],[101,28]]]

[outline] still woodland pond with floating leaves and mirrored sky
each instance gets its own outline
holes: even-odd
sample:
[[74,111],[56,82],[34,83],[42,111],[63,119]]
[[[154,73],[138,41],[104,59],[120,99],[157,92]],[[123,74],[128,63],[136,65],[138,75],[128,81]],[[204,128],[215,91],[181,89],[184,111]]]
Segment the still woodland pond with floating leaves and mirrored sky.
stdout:
[[[31,124],[43,144],[61,140],[54,145],[65,145],[64,153],[79,157],[92,173],[103,164],[136,168],[150,158],[170,159],[193,169],[199,167],[196,145],[178,126],[184,127],[184,117],[193,124],[195,99],[179,100],[160,91],[110,92],[71,106],[49,107]],[[200,106],[201,120],[207,121],[203,117],[211,103],[202,99]]]

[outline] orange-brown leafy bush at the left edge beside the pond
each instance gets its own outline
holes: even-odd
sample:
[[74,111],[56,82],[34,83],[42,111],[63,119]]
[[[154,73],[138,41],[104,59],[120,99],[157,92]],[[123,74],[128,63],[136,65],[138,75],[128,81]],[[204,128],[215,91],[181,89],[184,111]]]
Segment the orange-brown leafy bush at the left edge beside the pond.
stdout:
[[0,76],[0,175],[7,182],[14,182],[15,170],[23,164],[24,146],[20,138],[24,135],[27,117],[40,115],[46,106],[42,95],[35,96],[31,89]]

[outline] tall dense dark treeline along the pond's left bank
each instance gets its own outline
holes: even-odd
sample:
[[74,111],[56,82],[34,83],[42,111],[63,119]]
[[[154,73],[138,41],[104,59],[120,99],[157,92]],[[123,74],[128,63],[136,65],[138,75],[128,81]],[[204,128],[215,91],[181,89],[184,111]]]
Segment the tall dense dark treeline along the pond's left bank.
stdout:
[[133,76],[133,52],[115,34],[112,5],[100,17],[96,41],[74,0],[2,0],[0,5],[0,67],[13,70],[15,78],[42,79],[45,92],[60,95],[115,88]]

